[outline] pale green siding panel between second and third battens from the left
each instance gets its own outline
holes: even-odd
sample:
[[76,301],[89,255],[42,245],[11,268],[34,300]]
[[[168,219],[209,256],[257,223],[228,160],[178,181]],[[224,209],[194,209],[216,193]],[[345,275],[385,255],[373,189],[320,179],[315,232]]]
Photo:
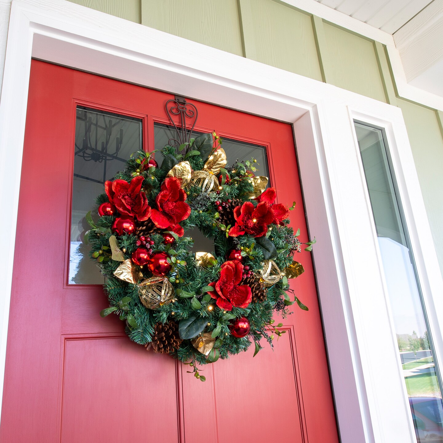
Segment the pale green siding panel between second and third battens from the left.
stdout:
[[272,0],[239,0],[245,55],[322,80],[311,17]]

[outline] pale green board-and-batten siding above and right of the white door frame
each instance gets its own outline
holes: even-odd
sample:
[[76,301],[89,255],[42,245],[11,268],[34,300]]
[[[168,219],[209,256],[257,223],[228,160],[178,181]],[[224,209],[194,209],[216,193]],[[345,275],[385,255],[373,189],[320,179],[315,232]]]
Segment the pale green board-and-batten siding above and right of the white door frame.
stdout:
[[443,110],[396,96],[381,43],[279,0],[69,1],[400,107],[443,273]]

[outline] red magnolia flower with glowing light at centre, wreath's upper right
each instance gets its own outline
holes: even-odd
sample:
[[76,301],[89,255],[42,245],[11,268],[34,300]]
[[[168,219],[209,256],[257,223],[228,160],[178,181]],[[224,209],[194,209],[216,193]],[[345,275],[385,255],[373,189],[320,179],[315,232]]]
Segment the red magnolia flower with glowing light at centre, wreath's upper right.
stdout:
[[268,230],[268,225],[274,220],[274,214],[267,202],[260,202],[257,207],[251,202],[245,202],[234,208],[235,225],[229,229],[231,237],[249,234],[253,237],[262,237]]

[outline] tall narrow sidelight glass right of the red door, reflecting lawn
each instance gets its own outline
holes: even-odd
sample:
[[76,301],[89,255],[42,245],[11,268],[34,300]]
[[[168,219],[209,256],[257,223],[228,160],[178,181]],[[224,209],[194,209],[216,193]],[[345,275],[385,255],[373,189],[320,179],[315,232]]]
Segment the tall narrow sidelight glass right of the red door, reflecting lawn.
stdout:
[[441,379],[383,131],[355,122],[418,442],[443,442]]

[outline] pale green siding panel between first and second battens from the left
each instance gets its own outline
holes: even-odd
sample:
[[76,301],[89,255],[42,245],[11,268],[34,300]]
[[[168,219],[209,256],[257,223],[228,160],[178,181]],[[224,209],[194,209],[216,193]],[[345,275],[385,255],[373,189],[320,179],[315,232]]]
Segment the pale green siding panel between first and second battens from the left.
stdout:
[[141,0],[141,23],[243,55],[236,0]]

